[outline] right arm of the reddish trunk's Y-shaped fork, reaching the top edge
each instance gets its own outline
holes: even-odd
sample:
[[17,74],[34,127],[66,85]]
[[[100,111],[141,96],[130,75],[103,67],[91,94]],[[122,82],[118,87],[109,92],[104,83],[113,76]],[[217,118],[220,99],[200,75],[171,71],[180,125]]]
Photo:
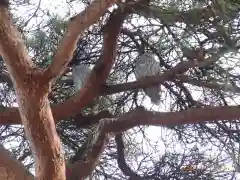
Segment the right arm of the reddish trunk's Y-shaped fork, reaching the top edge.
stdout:
[[94,0],[83,12],[72,18],[68,30],[53,58],[52,64],[47,68],[44,77],[56,79],[67,68],[76,49],[81,34],[106,12],[118,0]]

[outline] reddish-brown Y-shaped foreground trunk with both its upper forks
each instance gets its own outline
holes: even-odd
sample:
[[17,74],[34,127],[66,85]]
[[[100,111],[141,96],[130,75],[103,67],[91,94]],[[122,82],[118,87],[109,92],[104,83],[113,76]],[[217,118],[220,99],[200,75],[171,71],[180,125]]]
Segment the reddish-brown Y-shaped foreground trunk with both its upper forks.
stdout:
[[[52,82],[61,75],[70,61],[77,38],[86,28],[99,19],[113,3],[114,1],[96,0],[89,8],[76,16],[69,25],[68,32],[58,48],[53,63],[44,72],[36,69],[27,54],[21,35],[13,24],[8,7],[0,6],[0,52],[10,72],[16,91],[21,121],[35,155],[37,179],[61,180],[66,178],[65,160],[48,95]],[[81,24],[79,28],[79,23],[84,24]],[[111,45],[114,46],[114,44]],[[113,49],[112,54],[111,57],[114,57],[115,49]],[[110,62],[113,63],[114,61],[111,59]],[[103,63],[109,68],[109,72],[112,63],[110,65],[108,62],[107,64]],[[108,72],[104,72],[103,77],[106,79],[107,76]],[[94,81],[96,81],[96,77]]]

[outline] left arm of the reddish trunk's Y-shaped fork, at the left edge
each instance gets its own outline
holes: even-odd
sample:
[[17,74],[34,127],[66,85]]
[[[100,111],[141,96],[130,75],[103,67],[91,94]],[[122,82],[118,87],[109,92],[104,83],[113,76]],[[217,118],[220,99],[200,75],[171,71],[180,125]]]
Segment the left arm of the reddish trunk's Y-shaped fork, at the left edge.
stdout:
[[23,81],[34,65],[6,6],[0,6],[0,24],[0,54],[14,81]]

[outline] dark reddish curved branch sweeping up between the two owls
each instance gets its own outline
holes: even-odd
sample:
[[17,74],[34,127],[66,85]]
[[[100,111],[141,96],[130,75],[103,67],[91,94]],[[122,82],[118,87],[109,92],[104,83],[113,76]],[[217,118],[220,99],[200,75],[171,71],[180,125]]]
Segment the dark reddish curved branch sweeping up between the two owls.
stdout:
[[[117,39],[126,13],[116,13],[110,16],[103,32],[103,53],[93,68],[88,82],[70,99],[52,108],[55,119],[65,119],[77,114],[98,94],[101,85],[105,83],[116,56]],[[68,108],[66,108],[68,107]]]

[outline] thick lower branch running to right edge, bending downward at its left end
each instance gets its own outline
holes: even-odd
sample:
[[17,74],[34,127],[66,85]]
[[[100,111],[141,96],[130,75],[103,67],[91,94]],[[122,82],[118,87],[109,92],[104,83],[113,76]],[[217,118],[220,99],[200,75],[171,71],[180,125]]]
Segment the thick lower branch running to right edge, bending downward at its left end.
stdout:
[[[235,120],[240,117],[240,107],[205,107],[192,108],[180,112],[151,112],[144,108],[137,108],[119,118],[102,119],[100,121],[102,128],[97,142],[94,144],[92,151],[88,152],[89,161],[77,162],[72,167],[74,177],[81,179],[86,177],[96,166],[97,160],[108,143],[110,137],[114,134],[122,133],[128,129],[141,125],[153,126],[174,126],[182,124],[193,124],[211,122],[216,120]],[[118,138],[118,137],[116,137]],[[119,140],[119,139],[117,139]],[[119,144],[118,144],[119,145]],[[120,148],[120,146],[118,147]],[[120,149],[119,153],[120,153]],[[120,158],[120,157],[119,157]],[[121,160],[122,161],[122,160]],[[121,162],[123,163],[123,162]],[[84,169],[84,168],[85,169]],[[121,169],[125,165],[121,164]],[[81,171],[84,169],[84,172]],[[128,176],[140,179],[140,176],[134,174],[129,169],[124,169]],[[81,178],[80,178],[81,177]]]

